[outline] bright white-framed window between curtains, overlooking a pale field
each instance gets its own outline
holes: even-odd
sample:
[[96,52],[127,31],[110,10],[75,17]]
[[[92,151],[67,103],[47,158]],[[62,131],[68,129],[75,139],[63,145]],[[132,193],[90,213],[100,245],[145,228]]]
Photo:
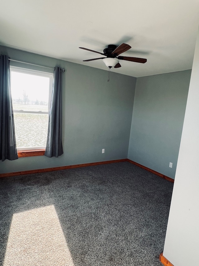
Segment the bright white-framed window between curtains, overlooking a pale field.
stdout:
[[10,66],[17,151],[46,148],[53,74]]

